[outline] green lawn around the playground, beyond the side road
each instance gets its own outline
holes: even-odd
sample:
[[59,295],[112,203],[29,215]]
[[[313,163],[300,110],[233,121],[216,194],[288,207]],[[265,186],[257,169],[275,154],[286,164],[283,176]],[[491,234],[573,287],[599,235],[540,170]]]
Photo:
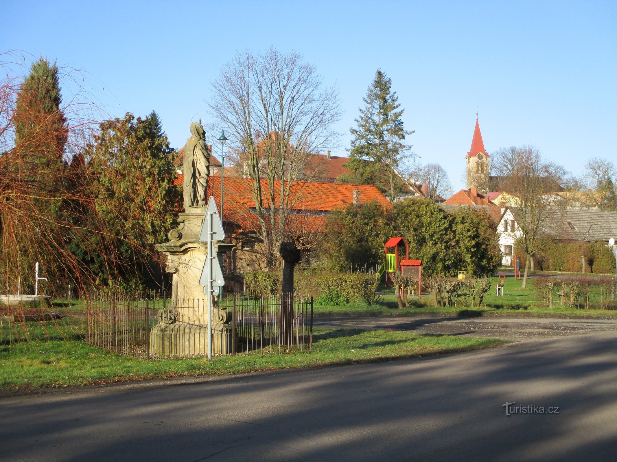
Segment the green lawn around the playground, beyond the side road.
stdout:
[[527,282],[527,288],[521,288],[522,281],[513,277],[505,278],[503,296],[495,295],[495,283],[499,278],[494,278],[491,290],[484,296],[482,307],[471,307],[468,298],[466,306],[439,307],[434,306],[433,294],[423,293],[422,299],[417,296],[410,297],[410,308],[399,309],[394,289],[389,287],[379,288],[377,301],[370,306],[365,302],[354,301],[347,305],[318,306],[314,312],[318,316],[370,316],[370,315],[417,315],[417,314],[441,314],[441,315],[503,315],[503,314],[526,314],[526,315],[560,315],[560,316],[584,316],[584,317],[615,317],[617,310],[578,309],[576,307],[559,307],[559,298],[555,295],[553,308],[539,306],[538,296],[534,288],[532,278]]

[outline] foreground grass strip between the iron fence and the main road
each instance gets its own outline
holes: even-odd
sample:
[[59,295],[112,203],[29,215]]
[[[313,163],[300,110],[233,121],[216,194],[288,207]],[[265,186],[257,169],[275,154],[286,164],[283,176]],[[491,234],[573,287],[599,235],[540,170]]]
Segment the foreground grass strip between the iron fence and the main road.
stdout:
[[[57,326],[31,325],[30,339],[0,344],[0,388],[64,387],[147,378],[233,374],[408,358],[471,351],[503,341],[405,331],[315,329],[313,351],[292,354],[242,354],[199,359],[144,361],[86,344],[83,322],[65,318]],[[4,327],[6,329],[6,326]],[[1,335],[6,331],[0,331]]]

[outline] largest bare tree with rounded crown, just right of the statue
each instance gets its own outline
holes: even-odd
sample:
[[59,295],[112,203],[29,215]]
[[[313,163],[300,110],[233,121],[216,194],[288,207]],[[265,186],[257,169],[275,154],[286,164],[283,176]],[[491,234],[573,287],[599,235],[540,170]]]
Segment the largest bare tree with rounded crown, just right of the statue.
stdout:
[[299,199],[290,194],[292,184],[305,179],[307,156],[339,139],[333,129],[341,116],[338,94],[297,53],[245,50],[213,81],[209,105],[246,167],[259,237],[268,265],[274,265],[277,246],[290,237],[289,215]]

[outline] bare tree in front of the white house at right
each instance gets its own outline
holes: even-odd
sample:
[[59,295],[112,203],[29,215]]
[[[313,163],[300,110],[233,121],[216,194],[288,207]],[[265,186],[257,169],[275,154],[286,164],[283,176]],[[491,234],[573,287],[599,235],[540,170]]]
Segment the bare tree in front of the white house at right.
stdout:
[[563,167],[548,163],[534,147],[510,147],[495,154],[495,171],[499,190],[515,202],[513,213],[520,233],[516,244],[527,256],[523,288],[527,286],[531,259],[549,243],[545,230],[551,209],[556,206],[553,194],[567,173]]

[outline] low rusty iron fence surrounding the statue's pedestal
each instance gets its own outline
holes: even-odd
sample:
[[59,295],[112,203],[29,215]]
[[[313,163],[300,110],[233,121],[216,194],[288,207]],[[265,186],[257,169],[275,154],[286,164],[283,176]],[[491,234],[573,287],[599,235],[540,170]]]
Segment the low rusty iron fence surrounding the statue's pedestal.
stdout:
[[[93,296],[86,306],[89,344],[143,359],[207,355],[207,299]],[[233,291],[213,302],[213,355],[310,351],[312,333],[312,297]]]

